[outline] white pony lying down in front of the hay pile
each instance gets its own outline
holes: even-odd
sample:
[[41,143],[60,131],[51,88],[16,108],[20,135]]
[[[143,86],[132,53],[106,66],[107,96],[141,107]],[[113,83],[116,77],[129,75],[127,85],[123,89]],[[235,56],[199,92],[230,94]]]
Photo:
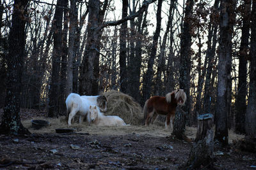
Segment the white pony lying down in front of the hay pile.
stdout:
[[89,123],[95,124],[97,126],[124,126],[124,120],[117,116],[105,116],[100,113],[97,106],[90,106],[89,113],[87,115],[87,120]]

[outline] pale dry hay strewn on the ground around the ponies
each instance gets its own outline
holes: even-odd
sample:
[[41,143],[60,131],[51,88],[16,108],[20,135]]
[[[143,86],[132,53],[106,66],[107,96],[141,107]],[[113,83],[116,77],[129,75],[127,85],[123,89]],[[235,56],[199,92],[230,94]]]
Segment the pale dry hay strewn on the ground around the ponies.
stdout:
[[[40,119],[47,120],[50,122],[50,125],[47,127],[43,127],[42,129],[33,129],[31,120]],[[97,125],[88,124],[87,122],[82,122],[81,124],[74,123],[71,127],[67,127],[67,121],[65,117],[59,118],[45,118],[45,117],[32,117],[31,119],[22,120],[22,125],[26,127],[31,133],[37,134],[56,134],[55,129],[65,129],[65,128],[74,128],[77,133],[89,133],[89,134],[99,134],[99,135],[110,135],[115,132],[116,135],[124,135],[124,134],[148,134],[149,136],[161,136],[166,137],[170,136],[172,132],[170,128],[165,129],[164,125],[149,125],[149,126],[141,126],[141,125],[131,125],[131,126],[121,126],[121,127],[97,127]],[[214,129],[213,129],[214,131]],[[195,139],[196,136],[196,127],[188,127],[186,126],[186,136],[188,138]],[[236,134],[233,130],[228,131],[228,143],[238,143],[239,139],[244,138],[244,135]]]

